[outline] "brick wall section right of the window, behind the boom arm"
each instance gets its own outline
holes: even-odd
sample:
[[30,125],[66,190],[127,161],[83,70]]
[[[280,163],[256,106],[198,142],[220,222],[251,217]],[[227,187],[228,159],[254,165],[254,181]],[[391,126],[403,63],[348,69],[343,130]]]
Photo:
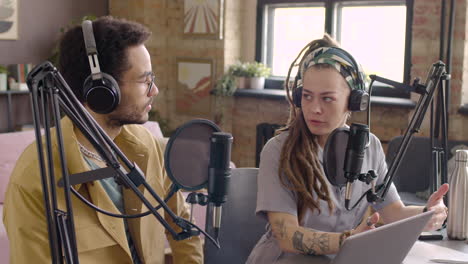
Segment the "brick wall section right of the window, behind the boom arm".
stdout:
[[[449,6],[450,1],[447,1]],[[458,108],[468,103],[468,75],[466,65],[466,12],[465,0],[456,0],[455,26],[452,49],[452,65],[450,69],[450,105],[449,105],[449,139],[466,140],[468,135],[463,133],[467,127],[467,117],[458,113]],[[447,18],[448,18],[447,7]],[[411,76],[426,78],[427,71],[432,63],[439,60],[440,42],[440,13],[441,1],[439,0],[416,0],[414,3],[414,22],[412,38],[412,68]],[[446,26],[448,26],[448,19]],[[447,45],[447,44],[445,44]],[[446,62],[444,54],[443,61]],[[417,99],[417,96],[413,96]],[[429,114],[426,114],[420,135],[429,136]]]

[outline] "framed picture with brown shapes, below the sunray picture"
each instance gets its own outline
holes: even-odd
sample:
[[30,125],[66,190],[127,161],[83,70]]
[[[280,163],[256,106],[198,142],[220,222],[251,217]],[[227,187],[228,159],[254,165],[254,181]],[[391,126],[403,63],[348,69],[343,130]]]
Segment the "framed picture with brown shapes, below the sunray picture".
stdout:
[[176,112],[207,116],[213,88],[213,61],[177,59]]

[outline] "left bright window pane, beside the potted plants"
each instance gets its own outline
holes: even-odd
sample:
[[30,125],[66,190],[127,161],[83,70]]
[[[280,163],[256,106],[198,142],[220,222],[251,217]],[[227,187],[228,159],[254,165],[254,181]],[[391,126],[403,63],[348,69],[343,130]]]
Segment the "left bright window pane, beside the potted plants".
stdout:
[[273,7],[268,21],[267,60],[273,76],[286,76],[291,62],[311,40],[325,32],[324,7]]

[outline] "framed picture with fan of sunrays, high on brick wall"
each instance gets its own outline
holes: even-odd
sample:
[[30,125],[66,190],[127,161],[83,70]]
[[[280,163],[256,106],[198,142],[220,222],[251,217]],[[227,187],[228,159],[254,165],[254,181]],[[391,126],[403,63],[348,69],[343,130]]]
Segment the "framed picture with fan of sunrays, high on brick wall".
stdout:
[[222,38],[224,0],[184,0],[184,34]]

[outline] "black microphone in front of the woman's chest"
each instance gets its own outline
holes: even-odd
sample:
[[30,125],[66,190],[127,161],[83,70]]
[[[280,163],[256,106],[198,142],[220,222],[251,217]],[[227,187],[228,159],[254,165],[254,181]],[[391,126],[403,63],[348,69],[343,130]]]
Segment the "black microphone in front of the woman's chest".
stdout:
[[349,210],[352,183],[361,174],[364,154],[369,142],[369,127],[363,124],[351,124],[349,128],[348,145],[344,160],[344,173],[346,178],[345,207]]

